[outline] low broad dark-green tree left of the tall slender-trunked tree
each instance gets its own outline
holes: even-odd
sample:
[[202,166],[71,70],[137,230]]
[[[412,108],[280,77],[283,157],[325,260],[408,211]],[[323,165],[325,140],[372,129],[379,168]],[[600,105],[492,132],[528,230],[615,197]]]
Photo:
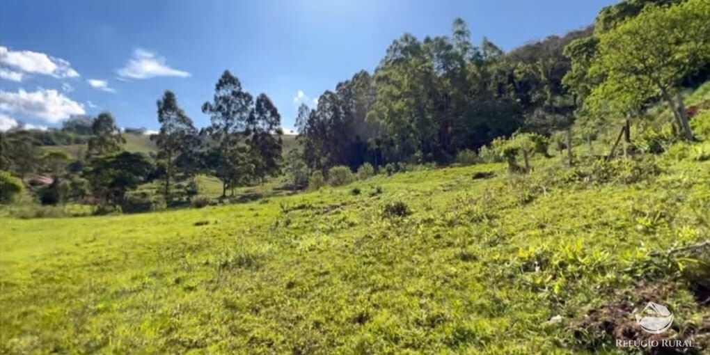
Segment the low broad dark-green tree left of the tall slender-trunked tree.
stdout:
[[146,155],[124,151],[97,156],[85,169],[94,197],[115,206],[125,200],[126,192],[148,180],[153,163]]

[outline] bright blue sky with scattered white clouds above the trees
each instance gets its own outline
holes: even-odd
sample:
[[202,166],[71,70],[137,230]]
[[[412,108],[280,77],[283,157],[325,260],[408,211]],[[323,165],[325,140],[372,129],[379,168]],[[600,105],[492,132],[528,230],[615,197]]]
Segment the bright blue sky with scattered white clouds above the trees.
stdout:
[[[0,129],[59,126],[110,111],[121,127],[157,129],[165,89],[207,126],[202,103],[225,69],[265,92],[283,126],[393,40],[449,35],[457,16],[474,42],[504,50],[594,21],[614,0],[0,0]],[[299,94],[300,93],[300,94]],[[297,102],[295,102],[297,101]]]

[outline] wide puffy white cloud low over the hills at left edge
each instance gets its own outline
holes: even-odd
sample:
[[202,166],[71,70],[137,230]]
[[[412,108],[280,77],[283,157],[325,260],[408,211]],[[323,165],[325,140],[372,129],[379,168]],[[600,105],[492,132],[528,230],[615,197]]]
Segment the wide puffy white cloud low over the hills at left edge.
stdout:
[[57,123],[72,114],[86,114],[82,104],[65,97],[57,90],[38,89],[35,92],[5,92],[0,90],[0,110],[18,111]]

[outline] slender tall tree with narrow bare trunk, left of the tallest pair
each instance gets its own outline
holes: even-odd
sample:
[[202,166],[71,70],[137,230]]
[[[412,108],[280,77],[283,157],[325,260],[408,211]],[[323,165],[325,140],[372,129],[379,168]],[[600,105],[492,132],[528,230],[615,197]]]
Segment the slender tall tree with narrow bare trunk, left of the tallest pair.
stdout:
[[175,179],[175,159],[181,154],[187,154],[197,146],[197,130],[188,117],[178,106],[175,94],[166,90],[163,98],[158,100],[158,123],[160,131],[151,137],[158,146],[158,158],[165,165],[165,181],[163,195],[170,198],[170,181]]

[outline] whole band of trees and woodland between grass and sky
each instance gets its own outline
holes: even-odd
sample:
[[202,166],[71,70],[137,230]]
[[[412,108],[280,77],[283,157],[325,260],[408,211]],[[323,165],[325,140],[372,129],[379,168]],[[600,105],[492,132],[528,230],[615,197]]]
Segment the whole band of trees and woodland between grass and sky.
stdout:
[[[710,75],[709,13],[703,0],[628,0],[603,9],[587,28],[508,53],[485,37],[474,40],[461,18],[449,36],[405,33],[373,72],[357,72],[320,95],[316,107],[300,107],[298,146],[288,152],[271,99],[254,99],[226,70],[202,107],[208,127],[195,127],[175,94],[165,92],[157,103],[160,131],[151,137],[157,151],[149,155],[125,151],[109,112],[69,119],[62,129],[2,133],[4,190],[50,175],[51,184],[36,192],[41,202],[111,207],[154,180],[163,203],[185,202],[197,174],[218,178],[226,197],[284,172],[291,188],[302,188],[341,166],[391,172],[492,154],[511,166],[523,155],[529,170],[528,151],[547,151],[550,143],[571,149],[621,129],[630,144],[630,126],[650,121],[648,109],[664,105],[670,131],[642,144],[658,153],[659,140],[695,139],[697,108],[686,107],[681,92]],[[40,149],[62,144],[86,146],[78,156]],[[21,182],[9,181],[13,176]]]

